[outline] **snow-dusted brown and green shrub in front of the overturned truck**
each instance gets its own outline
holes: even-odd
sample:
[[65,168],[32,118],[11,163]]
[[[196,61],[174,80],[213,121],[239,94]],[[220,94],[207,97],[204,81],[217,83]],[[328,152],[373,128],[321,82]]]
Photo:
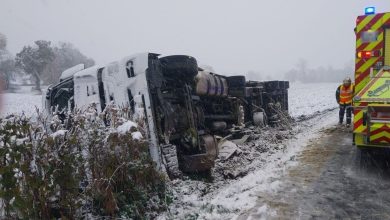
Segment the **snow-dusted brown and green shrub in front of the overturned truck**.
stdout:
[[142,219],[165,210],[165,177],[126,108],[108,106],[98,115],[91,107],[50,118],[38,112],[33,120],[0,119],[5,217]]

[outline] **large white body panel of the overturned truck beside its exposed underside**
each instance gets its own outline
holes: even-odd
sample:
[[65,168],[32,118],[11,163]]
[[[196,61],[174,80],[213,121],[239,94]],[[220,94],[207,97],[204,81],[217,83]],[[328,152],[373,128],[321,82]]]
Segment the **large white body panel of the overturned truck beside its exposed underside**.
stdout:
[[145,120],[149,151],[160,168],[161,153],[147,79],[151,56],[150,53],[135,54],[106,65],[102,69],[102,86],[106,104],[113,102],[118,106],[132,107],[135,118]]

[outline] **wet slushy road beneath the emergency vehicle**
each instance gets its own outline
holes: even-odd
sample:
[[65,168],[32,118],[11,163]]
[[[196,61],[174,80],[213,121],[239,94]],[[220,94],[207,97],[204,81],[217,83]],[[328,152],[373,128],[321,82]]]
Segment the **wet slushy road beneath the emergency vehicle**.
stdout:
[[360,162],[352,134],[333,126],[309,142],[277,191],[261,192],[238,219],[390,219],[390,154]]

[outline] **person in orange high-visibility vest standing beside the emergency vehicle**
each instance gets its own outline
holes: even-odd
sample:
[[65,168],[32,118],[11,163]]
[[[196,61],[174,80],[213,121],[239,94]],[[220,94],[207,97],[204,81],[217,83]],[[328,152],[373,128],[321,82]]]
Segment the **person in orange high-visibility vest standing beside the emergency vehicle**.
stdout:
[[343,124],[345,112],[347,112],[346,124],[348,127],[351,125],[353,94],[354,85],[351,82],[351,78],[347,77],[343,80],[343,84],[337,87],[336,90],[336,100],[340,105],[339,125]]

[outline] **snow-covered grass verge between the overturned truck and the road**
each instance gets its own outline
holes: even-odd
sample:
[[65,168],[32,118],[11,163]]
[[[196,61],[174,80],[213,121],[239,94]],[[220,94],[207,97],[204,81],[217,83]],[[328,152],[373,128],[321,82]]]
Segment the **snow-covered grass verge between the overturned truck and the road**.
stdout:
[[[257,158],[249,165],[250,172],[241,178],[214,180],[211,183],[197,180],[174,182],[172,189],[177,201],[173,203],[169,213],[165,213],[160,219],[241,219],[242,215],[245,216],[249,210],[258,206],[259,195],[277,192],[281,184],[279,177],[296,164],[296,155],[305,143],[317,138],[324,127],[336,123],[337,110],[326,111],[300,122],[291,139],[277,144],[261,139],[251,141],[252,147],[268,146],[264,146],[264,152],[256,154]],[[267,216],[272,216],[268,212],[266,206],[258,209],[259,214],[267,213]]]

